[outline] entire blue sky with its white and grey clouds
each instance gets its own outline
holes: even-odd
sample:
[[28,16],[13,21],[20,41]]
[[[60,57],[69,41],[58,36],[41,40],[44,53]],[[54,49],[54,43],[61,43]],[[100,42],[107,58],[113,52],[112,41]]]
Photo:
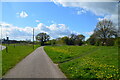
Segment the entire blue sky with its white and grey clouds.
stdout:
[[[72,0],[71,0],[72,1]],[[117,2],[2,2],[2,38],[32,39],[46,32],[51,39],[74,34],[83,34],[86,39],[93,33],[98,21],[110,19],[118,23]],[[0,36],[1,36],[0,35]]]

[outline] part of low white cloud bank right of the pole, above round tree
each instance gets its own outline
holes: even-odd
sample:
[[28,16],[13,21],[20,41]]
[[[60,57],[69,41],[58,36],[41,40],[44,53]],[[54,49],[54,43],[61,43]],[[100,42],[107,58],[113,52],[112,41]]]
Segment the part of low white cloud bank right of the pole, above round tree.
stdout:
[[69,28],[65,24],[51,24],[50,26],[45,26],[43,23],[40,23],[35,29],[36,32],[48,33],[51,38],[67,36],[72,33],[72,31],[69,30]]

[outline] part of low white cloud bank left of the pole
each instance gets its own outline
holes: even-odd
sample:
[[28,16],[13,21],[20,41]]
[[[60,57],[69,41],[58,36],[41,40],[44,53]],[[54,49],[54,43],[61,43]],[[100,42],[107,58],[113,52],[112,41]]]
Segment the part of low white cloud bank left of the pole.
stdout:
[[0,25],[2,26],[0,36],[2,35],[3,38],[9,36],[10,39],[26,39],[32,35],[32,28],[30,27],[20,28],[8,23],[0,23]]

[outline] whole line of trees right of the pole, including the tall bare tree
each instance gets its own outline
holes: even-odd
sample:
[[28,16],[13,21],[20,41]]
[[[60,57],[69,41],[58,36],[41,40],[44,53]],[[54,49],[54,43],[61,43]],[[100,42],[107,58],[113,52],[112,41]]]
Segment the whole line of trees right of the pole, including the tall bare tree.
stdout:
[[83,34],[71,34],[57,39],[50,40],[50,36],[46,33],[36,35],[36,40],[43,45],[97,45],[97,46],[113,46],[120,43],[119,30],[110,20],[99,21],[94,29],[93,34],[85,41]]

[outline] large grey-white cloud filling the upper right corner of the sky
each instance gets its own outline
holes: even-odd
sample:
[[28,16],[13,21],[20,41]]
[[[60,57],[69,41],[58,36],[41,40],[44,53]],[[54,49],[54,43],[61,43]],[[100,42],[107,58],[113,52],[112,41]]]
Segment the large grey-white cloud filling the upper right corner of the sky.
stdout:
[[[62,5],[63,7],[78,7],[85,11],[90,11],[96,16],[104,17],[105,19],[112,20],[115,24],[118,23],[118,2],[109,2],[113,0],[109,0],[107,2],[102,2],[101,0],[53,0],[55,4]],[[93,2],[91,2],[93,1]],[[98,1],[98,2],[97,2]],[[78,14],[81,14],[81,11],[78,10]],[[104,19],[103,18],[103,19]],[[102,18],[98,18],[101,20]]]

